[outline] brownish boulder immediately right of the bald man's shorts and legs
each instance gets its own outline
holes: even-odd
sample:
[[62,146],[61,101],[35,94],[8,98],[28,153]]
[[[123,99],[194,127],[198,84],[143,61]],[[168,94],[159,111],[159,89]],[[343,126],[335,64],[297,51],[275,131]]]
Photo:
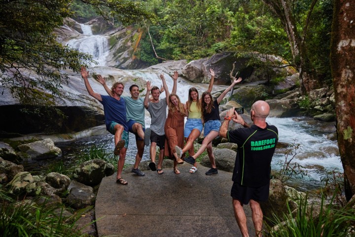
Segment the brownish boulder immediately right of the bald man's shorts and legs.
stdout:
[[282,218],[287,213],[287,194],[283,183],[278,179],[270,180],[269,199],[260,206],[267,222],[274,220],[274,215]]

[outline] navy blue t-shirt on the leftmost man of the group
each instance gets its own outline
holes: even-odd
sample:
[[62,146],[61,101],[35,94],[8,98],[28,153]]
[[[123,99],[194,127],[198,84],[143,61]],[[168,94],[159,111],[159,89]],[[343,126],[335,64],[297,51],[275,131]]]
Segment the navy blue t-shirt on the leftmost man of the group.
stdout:
[[121,97],[117,100],[108,95],[101,95],[101,104],[104,106],[106,129],[109,131],[109,124],[117,122],[123,126],[125,131],[128,131],[126,122],[126,101]]

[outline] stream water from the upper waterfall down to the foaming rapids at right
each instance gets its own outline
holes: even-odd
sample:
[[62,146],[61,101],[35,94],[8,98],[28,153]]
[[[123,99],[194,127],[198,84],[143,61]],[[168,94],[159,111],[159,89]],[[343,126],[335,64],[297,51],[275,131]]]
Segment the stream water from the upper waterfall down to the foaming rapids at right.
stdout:
[[[90,26],[81,25],[84,32],[80,37],[67,42],[72,47],[77,48],[80,51],[88,52],[95,56],[95,60],[99,62],[100,67],[94,67],[91,70],[97,74],[120,74],[132,75],[134,77],[142,77],[145,80],[150,80],[153,85],[160,87],[161,80],[159,79],[160,71],[154,71],[153,69],[141,69],[141,70],[118,70],[115,68],[105,67],[106,56],[108,54],[108,42],[106,36],[92,35]],[[91,72],[92,72],[91,71]],[[167,84],[169,88],[173,87],[173,80],[169,75],[165,74]],[[178,92],[181,102],[185,102],[187,99],[187,92],[191,86],[197,87],[200,91],[206,89],[206,84],[194,84],[184,79],[178,79]],[[99,93],[105,91],[100,84],[93,84],[93,89]],[[216,90],[221,90],[223,87],[214,86]],[[161,98],[165,97],[163,93]],[[276,125],[279,129],[279,141],[292,144],[296,139],[296,143],[301,144],[301,149],[297,150],[297,155],[293,161],[300,163],[306,167],[310,173],[310,177],[303,177],[296,179],[297,186],[301,189],[308,190],[312,187],[320,186],[320,174],[313,171],[321,169],[339,169],[343,171],[342,164],[338,153],[338,146],[336,141],[327,139],[327,134],[334,132],[334,129],[322,129],[326,124],[324,122],[314,121],[310,118],[268,118],[269,124]],[[333,123],[332,123],[333,124]],[[328,125],[328,128],[332,126]],[[150,118],[146,113],[146,126],[150,125]],[[91,137],[83,140],[76,141],[74,143],[67,143],[64,147],[75,147],[80,152],[86,152],[89,149],[89,145],[102,145],[107,151],[111,152],[114,149],[113,136],[110,134],[104,136]],[[65,149],[62,147],[62,149]],[[128,163],[134,163],[137,148],[135,147],[135,139],[130,134],[129,149],[127,152],[126,160]],[[290,158],[290,157],[289,157]],[[149,159],[149,148],[146,147],[143,159]],[[218,157],[216,157],[218,159]],[[279,169],[279,161],[284,160],[283,154],[275,154],[272,162],[273,169]]]

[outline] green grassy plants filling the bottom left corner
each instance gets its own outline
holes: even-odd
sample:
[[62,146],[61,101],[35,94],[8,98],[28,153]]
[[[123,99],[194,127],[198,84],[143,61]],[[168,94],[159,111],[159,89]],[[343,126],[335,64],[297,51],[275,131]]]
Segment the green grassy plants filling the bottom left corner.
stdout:
[[0,209],[0,236],[79,237],[75,222],[61,212],[31,202],[3,203]]

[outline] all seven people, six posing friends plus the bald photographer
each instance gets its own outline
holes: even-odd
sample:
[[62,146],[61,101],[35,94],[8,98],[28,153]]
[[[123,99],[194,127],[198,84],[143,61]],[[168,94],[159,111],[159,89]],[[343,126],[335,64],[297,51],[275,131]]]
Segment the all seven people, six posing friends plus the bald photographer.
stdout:
[[[261,236],[263,214],[259,202],[266,201],[269,197],[271,159],[278,142],[278,130],[266,122],[270,107],[265,101],[256,101],[251,106],[250,118],[253,121],[251,126],[238,115],[234,108],[227,112],[227,116],[221,124],[219,103],[228,91],[242,79],[234,79],[232,84],[217,99],[213,100],[211,95],[214,82],[213,69],[210,69],[210,75],[209,88],[202,93],[201,98],[199,98],[198,90],[192,87],[188,92],[188,100],[183,104],[176,94],[177,71],[172,75],[174,81],[172,93],[169,92],[164,76],[160,75],[166,97],[159,99],[162,88],[151,86],[150,81],[147,81],[147,91],[143,99],[139,97],[138,85],[130,86],[130,97],[122,96],[124,89],[122,82],[115,82],[111,88],[108,88],[105,79],[98,75],[97,79],[108,94],[100,95],[94,92],[90,86],[89,73],[85,68],[81,69],[81,76],[89,94],[104,106],[106,129],[114,135],[114,155],[119,155],[117,183],[127,184],[127,181],[121,177],[121,173],[129,143],[129,132],[136,136],[137,155],[132,172],[139,176],[144,175],[138,166],[142,159],[144,145],[148,146],[149,143],[151,158],[149,167],[153,171],[156,170],[158,174],[164,173],[162,169],[164,156],[174,160],[175,174],[180,173],[177,164],[184,161],[193,165],[189,172],[195,173],[197,171],[196,158],[206,149],[212,166],[206,175],[218,173],[213,156],[212,141],[219,135],[238,145],[231,189],[238,226],[244,237],[249,236],[247,218],[243,209],[243,205],[249,203],[255,234]],[[169,109],[168,115],[166,114],[167,107]],[[149,112],[151,117],[151,125],[147,129],[144,126],[144,109]],[[187,121],[184,125],[185,117],[187,117]],[[243,128],[228,130],[230,121],[241,124]],[[205,138],[195,154],[193,143],[201,135],[203,128]],[[156,165],[157,146],[160,148],[160,153]],[[185,157],[186,152],[189,154],[188,157]]]

